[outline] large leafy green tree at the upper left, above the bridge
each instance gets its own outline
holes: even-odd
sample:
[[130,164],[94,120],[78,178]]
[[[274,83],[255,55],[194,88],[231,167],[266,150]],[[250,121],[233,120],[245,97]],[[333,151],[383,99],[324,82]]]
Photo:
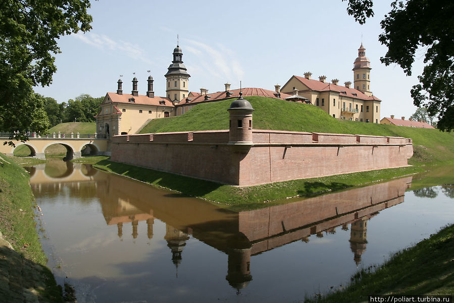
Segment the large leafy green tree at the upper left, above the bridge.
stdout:
[[[43,132],[47,128],[44,102],[31,106],[42,99],[32,87],[52,83],[57,70],[53,54],[60,53],[60,36],[91,29],[89,7],[89,0],[0,2],[0,129],[18,131],[10,139],[24,141],[27,130]],[[36,128],[30,129],[32,126]]]

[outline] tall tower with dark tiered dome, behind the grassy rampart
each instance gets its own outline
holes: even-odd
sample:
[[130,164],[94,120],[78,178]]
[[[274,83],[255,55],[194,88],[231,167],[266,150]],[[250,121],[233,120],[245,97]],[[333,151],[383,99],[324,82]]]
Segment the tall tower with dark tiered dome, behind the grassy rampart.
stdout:
[[167,79],[166,94],[170,100],[174,101],[174,103],[179,103],[187,97],[189,93],[188,79],[190,75],[187,73],[186,66],[183,64],[183,52],[178,45],[173,50],[173,61],[165,77]]

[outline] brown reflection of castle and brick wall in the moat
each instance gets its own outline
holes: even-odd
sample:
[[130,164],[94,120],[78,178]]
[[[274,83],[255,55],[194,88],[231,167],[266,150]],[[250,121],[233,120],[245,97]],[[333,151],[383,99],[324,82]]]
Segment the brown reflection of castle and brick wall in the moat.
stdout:
[[[55,176],[46,181],[45,171],[37,167],[31,186],[35,191],[45,192],[52,190],[55,184],[67,183],[74,194],[94,194],[99,198],[106,224],[117,226],[115,232],[120,240],[132,237],[149,241],[153,238],[155,218],[159,219],[166,224],[164,239],[170,250],[169,261],[177,269],[184,262],[186,241],[194,237],[228,255],[226,280],[238,291],[253,279],[251,256],[293,241],[309,242],[313,235],[335,234],[339,227],[350,230],[352,261],[360,264],[367,249],[368,220],[379,211],[402,203],[412,182],[412,177],[402,178],[283,205],[234,212],[203,200],[93,171],[90,167],[71,166],[68,170],[71,172],[59,172],[62,178],[56,183]],[[80,172],[76,174],[77,170]],[[124,235],[123,227],[129,224],[132,234]],[[146,235],[138,233],[141,224],[147,225]]]

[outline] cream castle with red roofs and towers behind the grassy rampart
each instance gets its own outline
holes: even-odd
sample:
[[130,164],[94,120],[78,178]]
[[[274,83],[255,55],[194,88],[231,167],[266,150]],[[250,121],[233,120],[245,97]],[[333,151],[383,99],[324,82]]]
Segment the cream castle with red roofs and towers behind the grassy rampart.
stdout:
[[[304,77],[293,75],[283,86],[275,85],[275,91],[260,88],[244,88],[243,97],[263,96],[292,102],[313,104],[334,118],[379,123],[381,100],[370,91],[370,61],[365,56],[366,49],[361,44],[358,58],[354,62],[354,88],[351,82],[338,85],[338,80],[326,82],[326,76],[319,80],[311,79],[312,73]],[[137,78],[132,79],[131,94],[123,93],[123,82],[118,80],[117,92],[107,93],[100,111],[96,115],[96,133],[105,137],[136,134],[150,120],[179,116],[193,106],[204,102],[215,102],[239,97],[240,90],[230,90],[225,83],[225,91],[209,94],[205,88],[200,93],[189,91],[189,73],[183,64],[183,52],[179,45],[173,50],[173,60],[166,77],[166,96],[155,96],[153,77],[147,79],[147,92],[139,95]]]

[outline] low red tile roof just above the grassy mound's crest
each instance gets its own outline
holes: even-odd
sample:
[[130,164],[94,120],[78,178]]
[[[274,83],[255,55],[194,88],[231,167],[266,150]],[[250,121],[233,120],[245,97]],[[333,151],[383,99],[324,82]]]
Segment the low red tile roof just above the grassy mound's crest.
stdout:
[[[191,92],[193,97],[188,97],[183,99],[180,103],[178,103],[176,106],[184,106],[186,104],[195,104],[195,103],[201,103],[201,102],[211,102],[211,101],[220,101],[224,99],[230,99],[230,98],[238,98],[239,97],[239,89],[237,90],[230,90],[230,96],[227,97],[226,92],[216,92],[212,94],[207,94],[207,95],[200,95],[198,93]],[[270,91],[270,90],[264,90],[264,89],[259,89],[259,88],[244,88],[241,89],[241,92],[243,93],[243,98],[248,97],[248,96],[262,96],[262,97],[268,97],[268,98],[274,98],[274,99],[284,99],[286,97],[289,97],[290,95],[288,94],[283,94],[280,93],[280,98],[278,98],[276,95],[277,93],[275,91]],[[276,95],[275,95],[276,94]],[[205,96],[210,96],[209,99],[205,100]],[[191,100],[188,100],[191,99]]]

